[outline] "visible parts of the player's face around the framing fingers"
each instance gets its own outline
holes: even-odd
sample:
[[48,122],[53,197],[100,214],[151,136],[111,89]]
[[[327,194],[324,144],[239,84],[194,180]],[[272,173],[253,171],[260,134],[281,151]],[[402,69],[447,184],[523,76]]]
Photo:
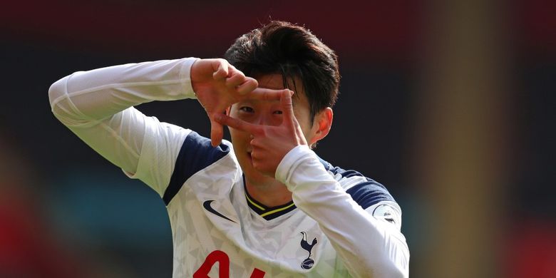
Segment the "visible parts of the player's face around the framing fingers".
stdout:
[[[257,78],[260,88],[283,89],[284,83],[282,76],[279,74],[269,74]],[[292,97],[294,115],[299,122],[307,143],[314,143],[318,124],[311,124],[311,113],[309,110],[309,101],[302,90],[302,84],[296,81],[298,90],[294,92]],[[294,88],[290,86],[290,88]],[[257,101],[244,100],[235,103],[229,110],[232,118],[244,120],[248,123],[257,125],[280,125],[282,123],[282,106],[279,101]],[[254,170],[251,160],[251,141],[250,134],[244,131],[230,128],[232,144],[234,145],[235,155],[244,172],[244,175],[250,183],[264,185],[267,182],[273,182],[272,177],[262,175]]]

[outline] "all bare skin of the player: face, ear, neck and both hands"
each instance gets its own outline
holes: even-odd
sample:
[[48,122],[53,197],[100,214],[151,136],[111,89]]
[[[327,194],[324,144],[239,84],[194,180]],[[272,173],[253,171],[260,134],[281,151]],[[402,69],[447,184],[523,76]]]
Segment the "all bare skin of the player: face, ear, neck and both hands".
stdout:
[[[302,89],[292,98],[294,92],[284,89],[282,76],[269,74],[255,80],[222,59],[195,62],[191,80],[211,121],[212,145],[222,140],[222,125],[229,126],[249,195],[268,207],[291,201],[292,192],[274,179],[276,169],[290,150],[312,145],[329,133],[331,108],[317,113],[311,124]],[[296,83],[297,88],[303,87],[299,80]]]

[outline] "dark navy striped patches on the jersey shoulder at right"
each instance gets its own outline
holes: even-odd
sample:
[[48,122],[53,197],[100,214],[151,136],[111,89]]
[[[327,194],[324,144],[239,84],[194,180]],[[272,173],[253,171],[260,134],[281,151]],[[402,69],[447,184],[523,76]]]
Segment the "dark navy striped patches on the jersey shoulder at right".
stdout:
[[381,201],[392,201],[396,202],[390,192],[381,185],[379,182],[376,182],[369,177],[365,177],[361,175],[361,173],[354,171],[354,170],[344,170],[339,167],[334,167],[330,163],[326,162],[325,160],[321,159],[322,165],[327,171],[330,171],[334,175],[341,175],[342,178],[349,178],[349,177],[364,177],[366,182],[361,182],[357,185],[346,190],[346,192],[351,195],[351,198],[359,204],[365,210],[367,207],[371,207]]

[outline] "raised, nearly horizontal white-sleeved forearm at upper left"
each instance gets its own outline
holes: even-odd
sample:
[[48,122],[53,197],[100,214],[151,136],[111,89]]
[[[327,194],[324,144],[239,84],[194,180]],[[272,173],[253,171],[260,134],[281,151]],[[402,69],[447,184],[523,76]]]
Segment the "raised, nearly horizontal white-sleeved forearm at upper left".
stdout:
[[48,91],[52,111],[65,125],[77,127],[140,103],[192,98],[193,61],[132,63],[73,73]]

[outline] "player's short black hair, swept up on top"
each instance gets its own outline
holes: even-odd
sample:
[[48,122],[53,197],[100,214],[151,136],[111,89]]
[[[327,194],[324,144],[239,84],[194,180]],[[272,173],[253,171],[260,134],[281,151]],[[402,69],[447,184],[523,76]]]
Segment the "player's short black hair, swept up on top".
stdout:
[[295,90],[295,77],[302,81],[311,115],[336,103],[340,74],[336,53],[302,26],[270,21],[254,29],[228,48],[225,59],[246,76],[278,73],[284,88]]

